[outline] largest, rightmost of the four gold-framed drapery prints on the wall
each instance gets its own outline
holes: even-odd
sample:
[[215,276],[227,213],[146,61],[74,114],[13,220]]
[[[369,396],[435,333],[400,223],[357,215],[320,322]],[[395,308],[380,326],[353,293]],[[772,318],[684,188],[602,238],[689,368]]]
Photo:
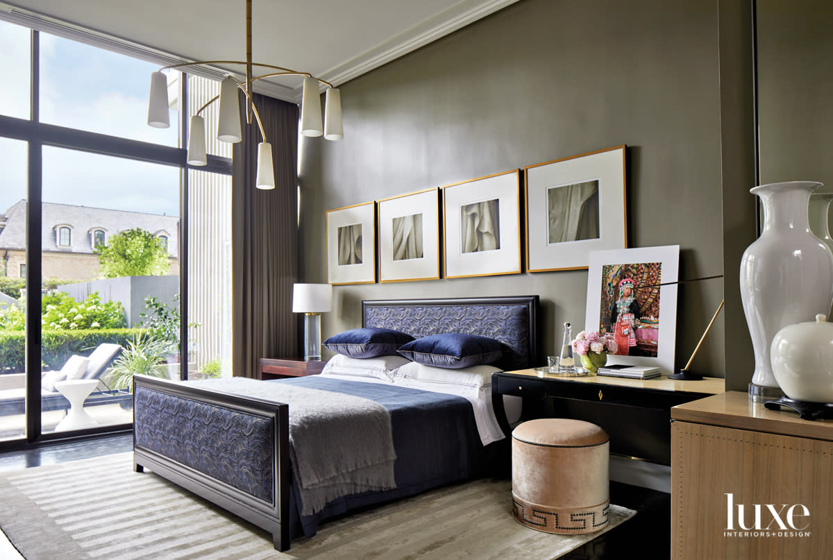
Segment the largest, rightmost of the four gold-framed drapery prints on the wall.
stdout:
[[526,176],[526,270],[587,268],[627,247],[625,147],[536,163]]

